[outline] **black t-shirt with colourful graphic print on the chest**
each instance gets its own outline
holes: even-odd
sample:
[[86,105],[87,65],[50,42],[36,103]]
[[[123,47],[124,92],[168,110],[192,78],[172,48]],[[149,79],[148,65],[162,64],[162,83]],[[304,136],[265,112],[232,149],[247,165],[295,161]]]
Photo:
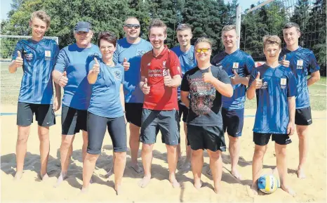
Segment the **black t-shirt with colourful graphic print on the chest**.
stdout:
[[[190,103],[187,124],[194,126],[221,126],[222,95],[213,84],[202,80],[202,74],[208,72],[194,67],[185,73],[182,78],[181,91],[189,91]],[[215,78],[225,84],[230,84],[230,79],[221,67],[211,66]]]

